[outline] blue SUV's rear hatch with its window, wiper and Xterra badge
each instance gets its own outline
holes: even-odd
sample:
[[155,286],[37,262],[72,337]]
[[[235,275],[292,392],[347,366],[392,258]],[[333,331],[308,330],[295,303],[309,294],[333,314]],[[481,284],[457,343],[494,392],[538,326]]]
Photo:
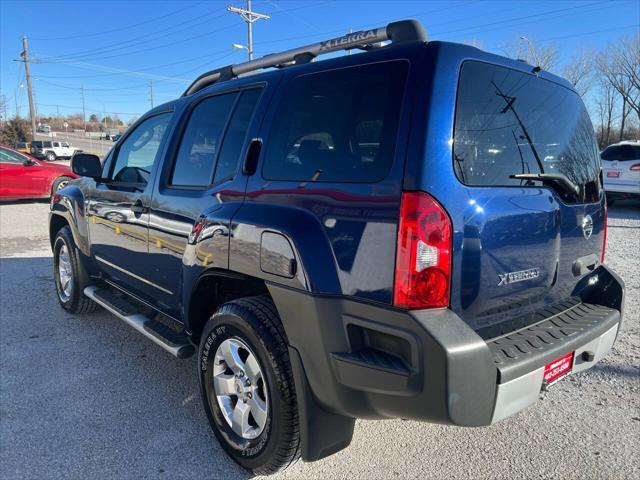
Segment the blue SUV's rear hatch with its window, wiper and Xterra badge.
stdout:
[[492,338],[577,301],[577,266],[600,261],[605,224],[580,97],[535,74],[465,62],[453,154],[466,198],[452,308]]

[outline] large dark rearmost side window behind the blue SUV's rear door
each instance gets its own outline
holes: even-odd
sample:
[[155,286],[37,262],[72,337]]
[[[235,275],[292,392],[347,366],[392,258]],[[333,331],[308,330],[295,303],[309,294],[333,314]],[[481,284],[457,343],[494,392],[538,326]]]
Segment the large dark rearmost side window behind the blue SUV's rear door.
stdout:
[[387,62],[294,79],[267,142],[263,177],[377,182],[395,153],[407,64]]

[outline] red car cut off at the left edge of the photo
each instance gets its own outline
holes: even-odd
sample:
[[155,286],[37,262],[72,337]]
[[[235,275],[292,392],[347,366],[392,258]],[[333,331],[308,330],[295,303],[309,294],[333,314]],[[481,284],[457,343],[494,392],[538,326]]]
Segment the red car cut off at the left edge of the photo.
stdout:
[[0,200],[49,198],[73,178],[78,176],[66,165],[44,163],[0,144]]

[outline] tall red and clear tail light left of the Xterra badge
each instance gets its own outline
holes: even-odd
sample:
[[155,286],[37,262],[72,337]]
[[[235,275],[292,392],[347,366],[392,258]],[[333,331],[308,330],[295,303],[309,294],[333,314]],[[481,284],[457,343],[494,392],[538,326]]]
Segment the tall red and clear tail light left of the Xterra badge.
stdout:
[[451,221],[423,192],[405,192],[400,205],[393,304],[401,308],[449,306]]

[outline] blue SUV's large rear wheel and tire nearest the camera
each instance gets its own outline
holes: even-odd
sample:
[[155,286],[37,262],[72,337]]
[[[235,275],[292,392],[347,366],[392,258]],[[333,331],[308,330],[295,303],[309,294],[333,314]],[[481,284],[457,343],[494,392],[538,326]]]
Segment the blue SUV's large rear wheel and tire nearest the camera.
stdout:
[[271,299],[234,300],[216,311],[201,336],[198,374],[211,428],[237,463],[269,475],[300,457],[287,339]]

